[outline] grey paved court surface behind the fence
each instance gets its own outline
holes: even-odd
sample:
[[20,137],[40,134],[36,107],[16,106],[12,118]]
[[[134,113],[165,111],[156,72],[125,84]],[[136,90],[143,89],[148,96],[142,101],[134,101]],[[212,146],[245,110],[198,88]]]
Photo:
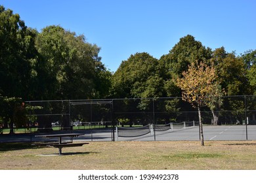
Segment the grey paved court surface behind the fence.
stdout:
[[[247,133],[246,133],[247,131]],[[74,133],[83,133],[74,141],[112,141],[111,129],[77,130]],[[205,141],[244,141],[256,140],[256,125],[221,125],[203,126],[203,137]],[[171,131],[156,131],[139,137],[117,137],[115,141],[199,141],[199,127]],[[53,139],[54,140],[54,139]],[[35,135],[0,135],[0,142],[30,142],[43,141]]]

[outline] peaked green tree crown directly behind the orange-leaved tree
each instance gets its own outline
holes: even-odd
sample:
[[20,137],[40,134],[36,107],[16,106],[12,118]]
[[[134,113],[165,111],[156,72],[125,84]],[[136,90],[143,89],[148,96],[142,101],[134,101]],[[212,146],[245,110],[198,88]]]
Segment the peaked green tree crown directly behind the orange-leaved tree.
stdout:
[[205,48],[202,42],[196,41],[192,35],[182,37],[169,54],[160,58],[160,63],[164,65],[164,88],[167,97],[177,97],[181,95],[181,90],[177,88],[175,82],[182,76],[182,72],[187,71],[189,65],[194,62],[207,61],[211,58],[211,49]]

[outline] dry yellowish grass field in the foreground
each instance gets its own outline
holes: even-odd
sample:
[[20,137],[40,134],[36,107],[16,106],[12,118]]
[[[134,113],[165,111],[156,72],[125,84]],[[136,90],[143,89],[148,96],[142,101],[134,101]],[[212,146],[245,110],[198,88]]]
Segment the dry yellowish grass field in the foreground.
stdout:
[[0,169],[256,169],[256,141],[90,142],[75,148],[0,144]]

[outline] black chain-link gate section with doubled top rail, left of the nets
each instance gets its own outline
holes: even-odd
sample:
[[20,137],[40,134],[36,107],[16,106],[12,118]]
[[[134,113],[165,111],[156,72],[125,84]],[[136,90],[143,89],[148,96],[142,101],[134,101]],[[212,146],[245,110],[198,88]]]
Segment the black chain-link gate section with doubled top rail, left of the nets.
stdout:
[[70,122],[74,130],[87,130],[91,141],[115,141],[113,101],[70,101]]

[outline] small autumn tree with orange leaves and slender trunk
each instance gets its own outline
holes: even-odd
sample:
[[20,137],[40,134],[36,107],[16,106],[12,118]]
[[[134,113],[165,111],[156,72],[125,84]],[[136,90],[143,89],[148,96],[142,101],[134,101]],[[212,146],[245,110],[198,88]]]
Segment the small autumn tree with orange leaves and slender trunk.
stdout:
[[177,86],[182,90],[182,99],[191,103],[192,107],[198,108],[200,140],[204,146],[201,108],[209,106],[212,102],[211,98],[219,95],[220,92],[215,68],[203,62],[192,63],[188,71],[182,73],[182,78],[177,79]]

